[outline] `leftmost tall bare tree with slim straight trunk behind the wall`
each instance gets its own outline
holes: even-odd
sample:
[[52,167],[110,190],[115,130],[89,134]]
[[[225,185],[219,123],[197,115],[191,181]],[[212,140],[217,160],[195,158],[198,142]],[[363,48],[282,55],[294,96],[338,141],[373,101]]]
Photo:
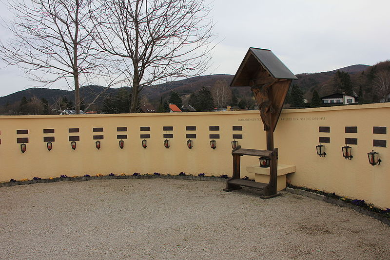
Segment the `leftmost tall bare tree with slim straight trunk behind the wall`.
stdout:
[[1,59],[19,65],[30,79],[44,84],[65,79],[75,90],[77,114],[80,77],[96,73],[101,64],[87,29],[91,1],[8,2],[15,19],[7,27],[14,38],[0,42]]

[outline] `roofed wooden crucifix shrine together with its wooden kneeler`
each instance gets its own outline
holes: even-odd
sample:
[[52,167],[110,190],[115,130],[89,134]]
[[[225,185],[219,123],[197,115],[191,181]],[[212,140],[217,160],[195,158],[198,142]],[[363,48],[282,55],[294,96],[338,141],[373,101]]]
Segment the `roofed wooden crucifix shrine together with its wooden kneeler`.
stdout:
[[[267,199],[277,195],[277,148],[273,147],[273,131],[275,131],[291,82],[296,79],[295,75],[271,50],[249,48],[230,86],[251,87],[259,106],[264,131],[267,132],[267,150],[242,149],[240,146],[235,148],[232,151],[233,177],[227,181],[225,191],[249,186],[262,192],[260,198]],[[240,157],[244,155],[265,157],[271,160],[269,183],[240,179]]]

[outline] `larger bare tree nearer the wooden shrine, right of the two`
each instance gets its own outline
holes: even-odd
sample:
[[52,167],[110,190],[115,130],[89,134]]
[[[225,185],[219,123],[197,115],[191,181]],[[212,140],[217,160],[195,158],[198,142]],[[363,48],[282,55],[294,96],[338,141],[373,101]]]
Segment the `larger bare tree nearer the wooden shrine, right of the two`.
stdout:
[[123,59],[131,112],[144,86],[200,75],[210,60],[213,23],[204,0],[97,0],[99,47]]

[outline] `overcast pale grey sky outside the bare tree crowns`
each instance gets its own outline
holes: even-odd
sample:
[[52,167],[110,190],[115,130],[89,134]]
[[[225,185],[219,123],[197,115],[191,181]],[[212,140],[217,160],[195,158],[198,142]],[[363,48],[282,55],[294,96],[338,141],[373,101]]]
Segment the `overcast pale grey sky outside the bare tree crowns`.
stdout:
[[[209,0],[221,41],[208,73],[235,74],[249,47],[271,49],[294,73],[390,59],[388,0]],[[9,13],[0,3],[0,15]],[[0,28],[0,39],[8,33]],[[0,62],[0,96],[37,85]],[[53,85],[51,88],[63,88]]]

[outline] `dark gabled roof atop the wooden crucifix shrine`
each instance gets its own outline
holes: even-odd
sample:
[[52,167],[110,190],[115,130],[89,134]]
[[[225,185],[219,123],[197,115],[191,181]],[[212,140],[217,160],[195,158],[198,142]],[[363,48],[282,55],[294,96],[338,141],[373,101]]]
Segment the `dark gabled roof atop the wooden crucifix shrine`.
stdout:
[[233,86],[249,86],[249,79],[253,79],[261,65],[273,79],[297,80],[298,78],[280,61],[271,50],[249,48],[242,60],[232,83]]

